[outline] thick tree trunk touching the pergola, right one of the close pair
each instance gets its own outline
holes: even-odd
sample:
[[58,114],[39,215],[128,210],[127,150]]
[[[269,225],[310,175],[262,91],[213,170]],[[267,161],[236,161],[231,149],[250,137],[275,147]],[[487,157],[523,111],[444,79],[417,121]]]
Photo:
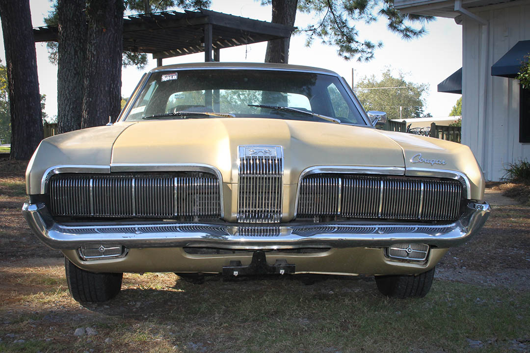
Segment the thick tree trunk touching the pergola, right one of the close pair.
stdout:
[[116,121],[121,102],[123,1],[87,1],[82,128]]

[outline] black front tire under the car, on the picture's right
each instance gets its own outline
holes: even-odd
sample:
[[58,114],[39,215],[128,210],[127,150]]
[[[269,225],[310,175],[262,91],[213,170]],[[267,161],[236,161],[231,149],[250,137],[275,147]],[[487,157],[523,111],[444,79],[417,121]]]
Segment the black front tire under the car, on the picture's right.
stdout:
[[419,275],[375,276],[379,292],[391,298],[423,298],[429,293],[435,267]]

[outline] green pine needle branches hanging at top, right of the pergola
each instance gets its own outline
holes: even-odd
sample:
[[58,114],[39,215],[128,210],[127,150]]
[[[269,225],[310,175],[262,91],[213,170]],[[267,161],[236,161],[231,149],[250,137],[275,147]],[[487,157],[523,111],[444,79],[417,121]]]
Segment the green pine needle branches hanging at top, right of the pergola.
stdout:
[[[272,4],[273,23],[294,25],[296,12],[293,16],[275,16],[290,13],[293,5],[300,12],[314,15],[316,24],[301,30],[307,35],[307,46],[311,46],[315,39],[320,40],[337,47],[338,54],[346,60],[368,61],[374,57],[374,50],[383,46],[381,41],[361,39],[356,23],[369,24],[381,17],[387,21],[388,30],[408,40],[425,34],[425,24],[435,19],[402,14],[394,8],[393,0],[261,0],[261,3]],[[273,50],[278,48],[267,46],[266,58],[273,58],[273,53],[269,52]]]

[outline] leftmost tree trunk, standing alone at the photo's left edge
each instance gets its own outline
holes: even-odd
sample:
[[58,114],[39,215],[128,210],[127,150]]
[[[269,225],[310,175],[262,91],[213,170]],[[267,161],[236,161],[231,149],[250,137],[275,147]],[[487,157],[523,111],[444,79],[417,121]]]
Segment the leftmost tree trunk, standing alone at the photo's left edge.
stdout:
[[0,1],[11,108],[11,158],[30,159],[43,137],[29,0]]

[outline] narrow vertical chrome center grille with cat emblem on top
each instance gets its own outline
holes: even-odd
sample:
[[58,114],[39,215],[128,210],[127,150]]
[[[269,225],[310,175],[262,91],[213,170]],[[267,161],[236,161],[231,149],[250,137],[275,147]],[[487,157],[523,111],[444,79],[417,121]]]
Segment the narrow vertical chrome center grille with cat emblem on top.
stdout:
[[284,174],[280,146],[240,146],[237,221],[278,223]]

